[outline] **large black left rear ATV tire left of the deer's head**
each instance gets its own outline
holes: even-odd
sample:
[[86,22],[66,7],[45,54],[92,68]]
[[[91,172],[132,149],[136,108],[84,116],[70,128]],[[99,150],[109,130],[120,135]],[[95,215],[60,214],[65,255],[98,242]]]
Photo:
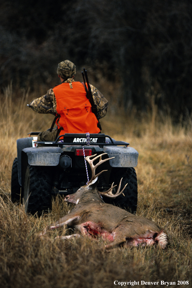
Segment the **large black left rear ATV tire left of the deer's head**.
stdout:
[[24,183],[25,212],[40,216],[51,210],[50,167],[28,165]]

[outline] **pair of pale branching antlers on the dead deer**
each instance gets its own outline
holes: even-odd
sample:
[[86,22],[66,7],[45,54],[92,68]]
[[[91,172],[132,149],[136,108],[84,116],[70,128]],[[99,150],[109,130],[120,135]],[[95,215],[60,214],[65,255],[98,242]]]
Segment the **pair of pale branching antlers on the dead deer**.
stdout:
[[[89,163],[89,165],[90,165],[90,167],[91,167],[91,172],[92,172],[91,180],[90,180],[89,182],[87,182],[87,185],[89,185],[89,184],[90,184],[91,182],[93,182],[94,180],[96,181],[97,177],[98,177],[101,173],[103,173],[104,171],[107,171],[107,170],[102,170],[101,172],[99,172],[99,173],[96,174],[96,168],[97,168],[99,165],[101,165],[102,163],[104,163],[104,162],[106,162],[106,161],[114,158],[114,157],[111,157],[111,158],[107,158],[107,159],[103,159],[103,160],[102,160],[102,155],[105,155],[105,154],[107,154],[107,153],[103,153],[103,154],[100,154],[100,155],[97,155],[97,156],[96,156],[96,154],[95,154],[95,155],[91,155],[91,156],[87,156],[87,157],[86,157],[86,160],[87,160],[87,162]],[[96,156],[96,157],[95,157],[95,156]],[[93,158],[93,157],[94,157],[94,158]],[[91,158],[93,158],[93,159],[91,159]],[[98,162],[96,165],[94,165],[93,162],[94,162],[96,159],[98,159],[98,158],[99,158],[99,162]],[[112,194],[113,188],[114,188],[115,186],[117,186],[117,185],[114,185],[114,186],[113,186],[114,182],[112,183],[112,186],[111,186],[111,188],[110,188],[109,190],[107,190],[107,191],[105,191],[105,192],[99,192],[99,191],[98,191],[99,194],[105,195],[106,197],[109,197],[109,198],[116,198],[117,196],[121,195],[121,194],[123,193],[124,189],[126,188],[127,184],[128,184],[128,183],[127,183],[127,184],[124,186],[124,188],[120,191],[122,179],[123,179],[123,178],[121,178],[121,181],[120,181],[120,183],[119,183],[119,187],[118,187],[117,192],[116,192],[115,194]],[[120,192],[119,192],[119,191],[120,191]],[[124,195],[124,194],[123,194],[123,195]],[[124,195],[124,196],[125,196],[125,195]]]

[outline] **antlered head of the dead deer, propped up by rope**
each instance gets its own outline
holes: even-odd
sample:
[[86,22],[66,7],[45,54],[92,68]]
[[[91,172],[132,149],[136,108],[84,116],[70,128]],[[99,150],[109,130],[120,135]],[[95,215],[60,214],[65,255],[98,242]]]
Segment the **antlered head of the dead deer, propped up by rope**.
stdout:
[[[99,192],[96,189],[96,185],[98,183],[98,176],[101,173],[103,173],[104,171],[107,171],[107,170],[102,170],[101,172],[96,174],[96,168],[99,165],[101,165],[102,163],[114,158],[114,157],[112,157],[112,158],[107,158],[107,159],[103,159],[102,160],[102,156],[105,155],[105,154],[107,154],[107,153],[103,153],[103,154],[100,154],[100,155],[97,155],[97,156],[95,154],[95,155],[91,155],[91,156],[87,156],[86,157],[86,161],[89,163],[90,168],[91,168],[91,172],[92,172],[91,180],[89,182],[87,182],[84,186],[80,187],[80,189],[78,189],[76,193],[71,194],[71,195],[67,195],[64,198],[65,202],[78,204],[78,203],[80,203],[80,201],[82,201],[82,199],[85,200],[87,197],[89,197],[90,194],[92,195],[94,200],[104,202],[102,200],[102,198],[101,198],[101,195],[105,195],[106,197],[110,197],[110,198],[116,198],[116,197],[118,197],[119,195],[121,195],[123,193],[123,191],[126,188],[127,184],[120,191],[122,179],[121,179],[121,181],[119,183],[119,187],[118,187],[117,192],[115,194],[112,193],[113,188],[116,186],[116,185],[113,186],[114,182],[112,183],[111,188],[109,190],[105,191],[105,192]],[[93,158],[93,159],[91,159],[91,158]],[[94,161],[96,159],[98,159],[98,158],[99,158],[99,162],[96,165],[94,165]]]

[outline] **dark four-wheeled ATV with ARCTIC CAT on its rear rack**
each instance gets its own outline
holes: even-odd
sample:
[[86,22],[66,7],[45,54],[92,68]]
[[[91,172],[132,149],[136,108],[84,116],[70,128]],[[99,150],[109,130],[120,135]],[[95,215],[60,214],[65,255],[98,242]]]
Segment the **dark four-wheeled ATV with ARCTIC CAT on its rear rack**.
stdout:
[[[17,139],[17,157],[13,162],[11,200],[20,201],[27,213],[41,215],[51,210],[52,197],[75,193],[88,182],[91,169],[86,163],[88,155],[106,153],[102,159],[112,158],[98,167],[97,188],[108,190],[112,183],[121,187],[128,183],[124,193],[106,203],[124,208],[132,213],[137,209],[137,166],[139,153],[129,143],[116,141],[105,134],[64,134],[55,141],[37,141],[38,133]],[[115,193],[116,187],[113,188]]]

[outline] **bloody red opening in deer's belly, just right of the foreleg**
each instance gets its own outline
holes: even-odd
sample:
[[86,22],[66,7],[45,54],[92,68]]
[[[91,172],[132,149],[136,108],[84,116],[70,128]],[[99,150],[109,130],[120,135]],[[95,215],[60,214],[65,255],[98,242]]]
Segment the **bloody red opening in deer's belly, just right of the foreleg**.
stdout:
[[85,222],[80,224],[80,231],[82,235],[87,235],[94,238],[102,237],[104,240],[108,240],[110,242],[114,240],[113,233],[108,232],[94,222]]

